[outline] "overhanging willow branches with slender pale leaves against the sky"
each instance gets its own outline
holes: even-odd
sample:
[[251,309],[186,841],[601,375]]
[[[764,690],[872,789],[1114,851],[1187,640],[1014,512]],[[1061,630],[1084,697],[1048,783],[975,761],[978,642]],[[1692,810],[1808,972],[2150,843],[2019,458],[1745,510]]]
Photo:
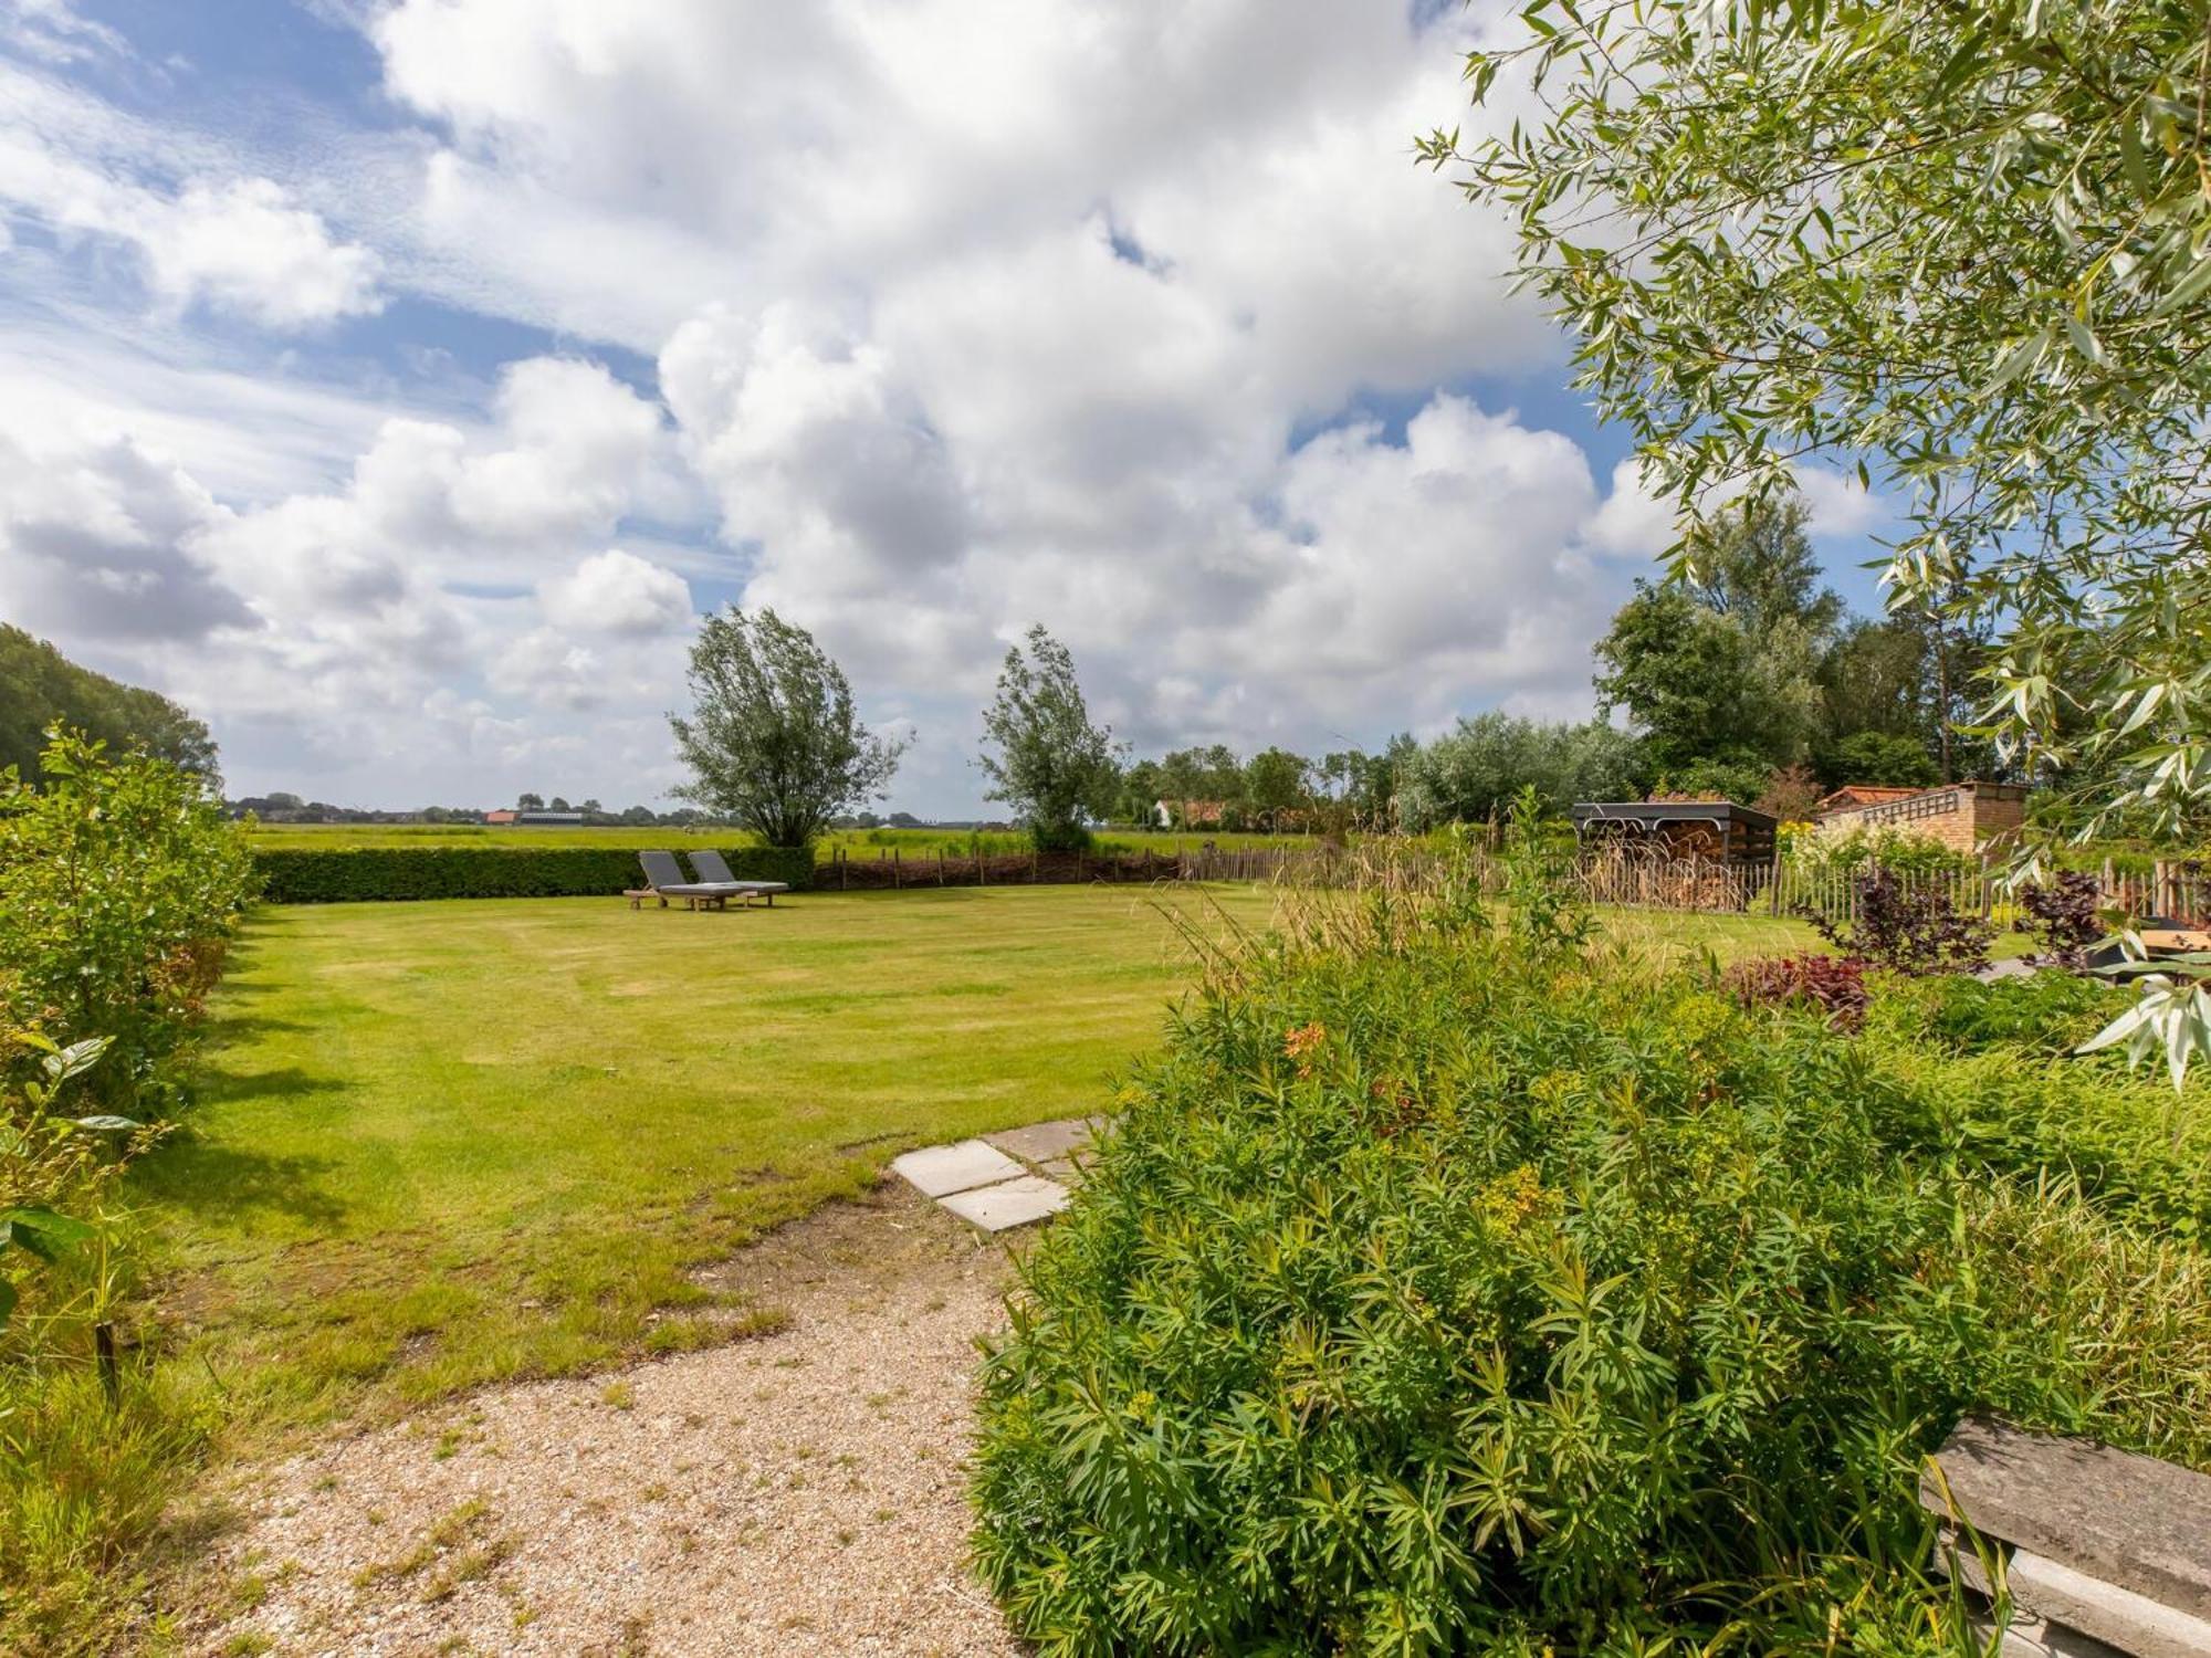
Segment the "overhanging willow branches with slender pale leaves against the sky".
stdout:
[[[1422,153],[1517,219],[1579,385],[1678,508],[1676,566],[1720,500],[1828,458],[1906,517],[1895,601],[1990,623],[1979,718],[2076,836],[2200,827],[2202,0],[1517,15],[1466,62],[1492,137]],[[2176,995],[2176,1066],[2211,1057],[2211,999]]]

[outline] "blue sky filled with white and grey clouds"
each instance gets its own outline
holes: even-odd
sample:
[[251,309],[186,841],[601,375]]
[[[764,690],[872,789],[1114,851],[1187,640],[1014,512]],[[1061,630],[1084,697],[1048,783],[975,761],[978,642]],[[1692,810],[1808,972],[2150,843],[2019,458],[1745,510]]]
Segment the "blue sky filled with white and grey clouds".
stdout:
[[924,818],[1037,621],[1139,754],[1581,718],[1672,524],[1415,166],[1501,15],[0,0],[0,621],[394,809],[672,805],[730,604]]

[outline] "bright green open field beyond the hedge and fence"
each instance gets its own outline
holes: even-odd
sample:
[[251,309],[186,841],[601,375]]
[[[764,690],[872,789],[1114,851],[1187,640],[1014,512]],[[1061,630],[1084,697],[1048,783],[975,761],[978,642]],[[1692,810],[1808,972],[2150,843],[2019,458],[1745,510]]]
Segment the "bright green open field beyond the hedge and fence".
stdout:
[[[756,836],[743,829],[517,829],[513,825],[482,822],[272,822],[256,825],[250,833],[254,847],[332,851],[338,847],[750,847]],[[1028,851],[1028,836],[986,833],[984,844],[993,853]],[[1311,836],[1232,836],[1218,829],[1101,831],[1101,851],[1152,851],[1167,853],[1178,847],[1196,849],[1205,842],[1227,849],[1245,847],[1309,847]],[[831,853],[847,858],[889,856],[895,847],[904,858],[933,858],[971,851],[975,836],[966,829],[836,829],[816,842],[816,858],[829,862]]]

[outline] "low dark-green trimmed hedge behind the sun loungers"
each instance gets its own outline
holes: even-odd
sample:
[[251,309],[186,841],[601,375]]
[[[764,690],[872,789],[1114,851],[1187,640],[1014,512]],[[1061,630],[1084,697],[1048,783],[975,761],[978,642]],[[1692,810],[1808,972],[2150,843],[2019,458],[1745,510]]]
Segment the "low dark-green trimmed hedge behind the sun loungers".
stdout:
[[[723,847],[738,880],[814,884],[805,847]],[[416,898],[615,898],[643,886],[621,847],[352,847],[254,853],[270,904],[352,904]]]

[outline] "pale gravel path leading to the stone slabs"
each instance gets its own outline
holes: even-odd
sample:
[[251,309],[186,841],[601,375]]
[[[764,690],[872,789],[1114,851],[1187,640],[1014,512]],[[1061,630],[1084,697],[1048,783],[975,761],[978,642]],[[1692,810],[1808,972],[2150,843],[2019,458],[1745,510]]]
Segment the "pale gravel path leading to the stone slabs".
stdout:
[[259,1605],[203,1649],[1021,1654],[964,1565],[973,1342],[1004,1318],[1004,1247],[898,1187],[721,1282],[789,1326],[265,1470],[228,1545]]

